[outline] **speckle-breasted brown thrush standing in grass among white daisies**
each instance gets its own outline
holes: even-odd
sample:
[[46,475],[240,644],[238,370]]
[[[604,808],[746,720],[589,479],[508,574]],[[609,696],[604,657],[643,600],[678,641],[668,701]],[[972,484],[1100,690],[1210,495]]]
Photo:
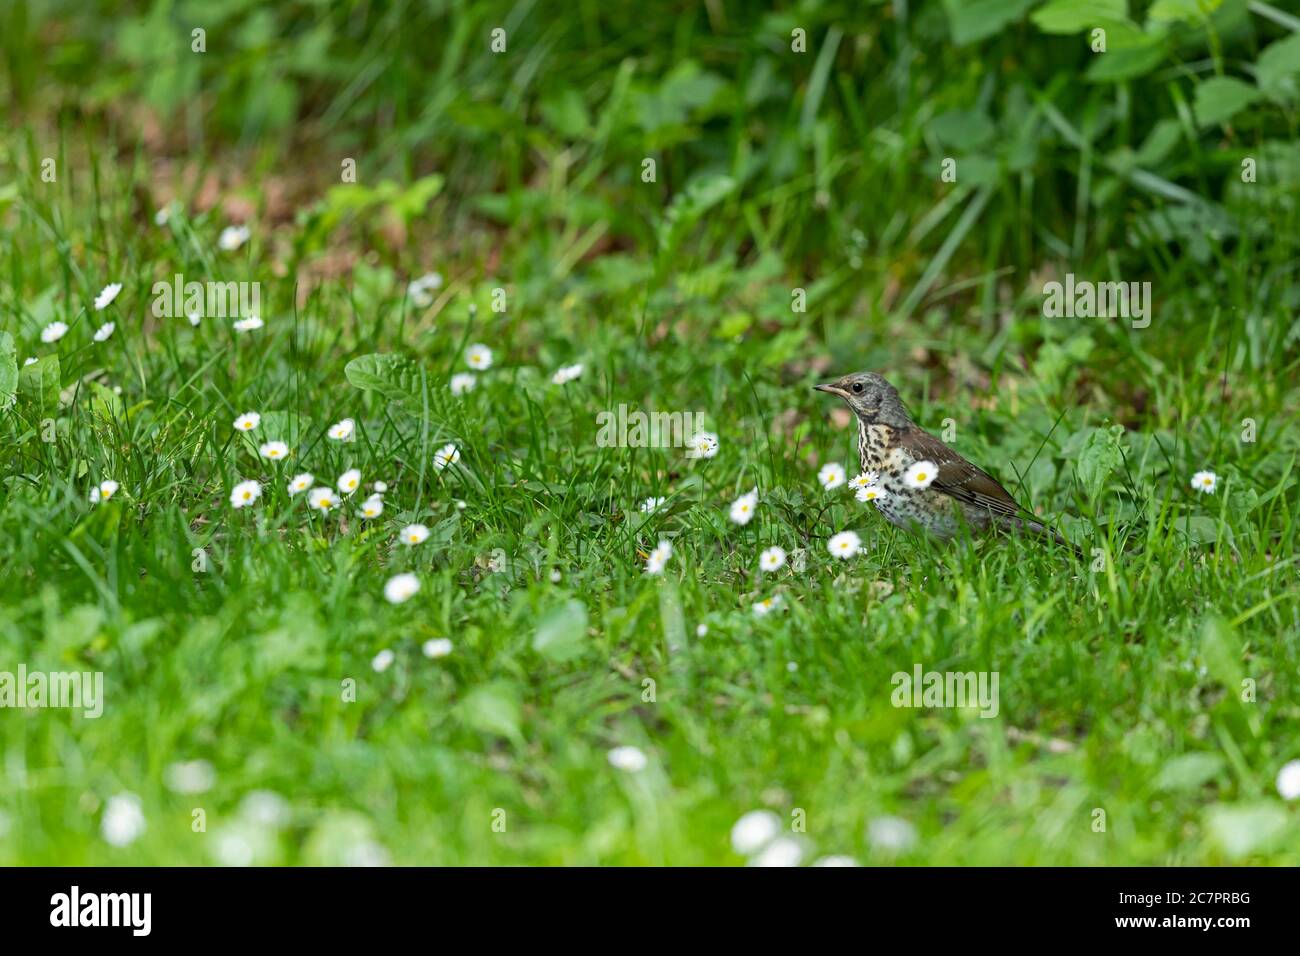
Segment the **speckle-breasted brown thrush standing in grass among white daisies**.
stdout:
[[858,458],[866,476],[858,479],[858,496],[872,501],[892,524],[945,541],[962,524],[974,532],[1031,531],[1082,554],[1020,507],[997,479],[913,421],[898,389],[884,376],[855,372],[812,388],[842,398],[858,419]]

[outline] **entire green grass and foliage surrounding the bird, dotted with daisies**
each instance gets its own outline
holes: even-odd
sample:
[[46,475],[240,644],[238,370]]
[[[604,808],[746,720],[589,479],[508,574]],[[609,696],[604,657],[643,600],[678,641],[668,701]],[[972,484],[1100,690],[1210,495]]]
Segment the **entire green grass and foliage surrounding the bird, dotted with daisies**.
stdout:
[[[0,864],[1300,862],[1300,21],[121,7],[5,23],[0,674],[103,713]],[[824,488],[859,369],[1084,557]]]

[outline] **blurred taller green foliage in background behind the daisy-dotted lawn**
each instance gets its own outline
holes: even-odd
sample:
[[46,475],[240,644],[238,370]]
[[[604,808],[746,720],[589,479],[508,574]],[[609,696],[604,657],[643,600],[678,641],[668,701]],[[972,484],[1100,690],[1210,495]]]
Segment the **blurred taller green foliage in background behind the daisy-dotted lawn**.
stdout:
[[[666,202],[720,176],[733,215],[714,245],[786,261],[946,260],[937,226],[980,196],[987,255],[972,233],[956,245],[1018,268],[1110,251],[1206,265],[1210,239],[1297,234],[1300,18],[1264,3],[8,7],[18,116],[43,95],[140,100],[190,140],[270,147],[304,174],[328,140],[364,182],[437,172],[455,215],[603,224],[614,243],[653,243]],[[902,222],[900,206],[928,212]]]

